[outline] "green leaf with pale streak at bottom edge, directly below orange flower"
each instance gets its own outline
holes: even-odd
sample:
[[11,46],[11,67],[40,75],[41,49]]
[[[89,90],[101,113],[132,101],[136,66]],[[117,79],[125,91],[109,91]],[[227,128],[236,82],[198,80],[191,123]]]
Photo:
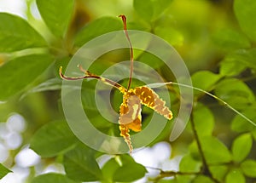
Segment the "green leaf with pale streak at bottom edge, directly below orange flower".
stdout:
[[127,154],[112,158],[102,168],[104,174],[108,174],[108,180],[112,177],[114,182],[130,182],[143,178],[147,169],[143,165],[136,163]]

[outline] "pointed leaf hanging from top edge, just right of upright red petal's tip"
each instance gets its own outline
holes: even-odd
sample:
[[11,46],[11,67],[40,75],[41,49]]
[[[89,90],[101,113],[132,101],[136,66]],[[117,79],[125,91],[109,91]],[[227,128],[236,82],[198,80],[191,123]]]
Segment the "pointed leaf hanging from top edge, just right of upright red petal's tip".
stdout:
[[151,0],[134,0],[133,8],[144,20],[150,22],[154,15],[154,4]]

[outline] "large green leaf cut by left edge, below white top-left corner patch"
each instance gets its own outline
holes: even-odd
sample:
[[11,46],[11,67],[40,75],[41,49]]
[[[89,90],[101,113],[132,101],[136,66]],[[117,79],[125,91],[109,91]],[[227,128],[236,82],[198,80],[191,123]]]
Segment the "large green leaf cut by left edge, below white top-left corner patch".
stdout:
[[0,22],[0,52],[12,52],[47,45],[44,38],[19,16],[0,13]]

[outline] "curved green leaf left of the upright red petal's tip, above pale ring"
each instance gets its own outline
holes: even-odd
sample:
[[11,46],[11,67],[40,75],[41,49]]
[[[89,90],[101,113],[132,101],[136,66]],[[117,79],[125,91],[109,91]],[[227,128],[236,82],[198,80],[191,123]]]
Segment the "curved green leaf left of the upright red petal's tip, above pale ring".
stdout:
[[102,17],[100,19],[90,22],[84,26],[75,37],[75,45],[82,46],[95,37],[102,36],[102,34],[119,31],[122,29],[122,21],[113,17]]

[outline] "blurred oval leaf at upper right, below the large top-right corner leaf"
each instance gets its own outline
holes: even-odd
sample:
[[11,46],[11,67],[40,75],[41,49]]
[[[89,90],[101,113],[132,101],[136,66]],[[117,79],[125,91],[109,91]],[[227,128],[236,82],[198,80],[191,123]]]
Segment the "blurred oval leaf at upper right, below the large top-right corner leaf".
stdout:
[[213,41],[221,49],[247,49],[251,47],[248,38],[234,29],[218,30],[213,35]]

